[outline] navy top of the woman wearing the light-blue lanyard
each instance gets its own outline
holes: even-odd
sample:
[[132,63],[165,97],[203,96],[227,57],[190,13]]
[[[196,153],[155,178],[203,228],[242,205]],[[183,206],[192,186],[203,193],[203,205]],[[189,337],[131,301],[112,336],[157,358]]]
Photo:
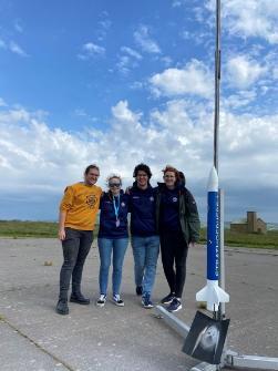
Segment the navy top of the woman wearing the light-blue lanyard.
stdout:
[[119,221],[116,226],[116,215],[113,205],[113,195],[111,192],[104,193],[100,202],[100,230],[99,238],[127,238],[127,214],[128,214],[130,196],[122,190],[120,194]]

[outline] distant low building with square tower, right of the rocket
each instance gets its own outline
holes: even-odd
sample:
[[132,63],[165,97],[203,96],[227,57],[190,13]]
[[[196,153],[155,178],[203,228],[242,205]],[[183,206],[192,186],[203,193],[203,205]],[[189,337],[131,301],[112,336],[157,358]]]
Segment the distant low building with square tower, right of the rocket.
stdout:
[[266,234],[267,224],[261,219],[257,218],[256,212],[247,212],[247,218],[239,221],[230,223],[230,230],[241,231],[245,234]]

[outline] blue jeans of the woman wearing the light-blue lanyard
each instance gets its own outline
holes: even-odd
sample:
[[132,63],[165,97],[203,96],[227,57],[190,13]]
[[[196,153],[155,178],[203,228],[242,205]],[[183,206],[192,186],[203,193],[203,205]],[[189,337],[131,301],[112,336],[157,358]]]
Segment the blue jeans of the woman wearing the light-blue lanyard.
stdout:
[[125,251],[128,245],[128,238],[99,238],[99,253],[101,259],[100,267],[100,291],[103,295],[107,292],[109,270],[111,266],[111,255],[113,251],[113,274],[112,274],[112,289],[113,295],[120,293],[122,281],[122,268],[124,262]]

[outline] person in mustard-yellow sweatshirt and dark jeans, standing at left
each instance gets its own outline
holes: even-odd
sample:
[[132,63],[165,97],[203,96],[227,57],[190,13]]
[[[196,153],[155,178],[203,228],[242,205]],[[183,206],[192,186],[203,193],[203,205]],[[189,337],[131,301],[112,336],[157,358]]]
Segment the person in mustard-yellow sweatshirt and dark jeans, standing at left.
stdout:
[[89,305],[81,292],[83,266],[93,243],[93,229],[99,212],[102,188],[95,183],[100,176],[96,165],[89,165],[84,182],[70,185],[60,204],[59,239],[62,241],[63,265],[60,272],[59,315],[69,315],[68,291],[72,280],[71,302]]

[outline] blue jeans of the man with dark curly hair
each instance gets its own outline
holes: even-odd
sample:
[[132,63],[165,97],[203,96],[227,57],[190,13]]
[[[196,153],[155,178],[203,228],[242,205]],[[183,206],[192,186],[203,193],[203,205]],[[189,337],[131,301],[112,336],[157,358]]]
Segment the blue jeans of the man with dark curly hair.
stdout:
[[159,254],[159,237],[132,237],[135,285],[143,287],[143,296],[152,293]]

